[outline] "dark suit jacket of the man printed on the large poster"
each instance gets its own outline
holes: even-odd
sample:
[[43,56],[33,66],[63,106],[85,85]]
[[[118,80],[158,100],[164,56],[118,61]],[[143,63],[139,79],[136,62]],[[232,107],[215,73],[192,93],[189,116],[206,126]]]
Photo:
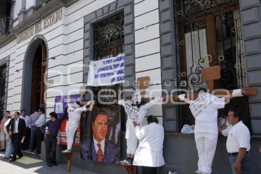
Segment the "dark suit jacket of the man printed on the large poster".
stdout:
[[[81,143],[81,159],[97,161],[97,154],[93,139],[84,140]],[[103,162],[115,163],[119,161],[118,148],[108,139],[105,139]]]

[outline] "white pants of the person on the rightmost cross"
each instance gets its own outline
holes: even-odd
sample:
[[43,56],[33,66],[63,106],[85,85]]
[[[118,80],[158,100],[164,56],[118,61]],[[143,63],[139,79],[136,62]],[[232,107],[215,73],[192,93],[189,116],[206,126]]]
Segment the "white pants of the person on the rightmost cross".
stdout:
[[195,140],[198,152],[198,170],[211,173],[212,161],[216,151],[217,134],[195,133]]

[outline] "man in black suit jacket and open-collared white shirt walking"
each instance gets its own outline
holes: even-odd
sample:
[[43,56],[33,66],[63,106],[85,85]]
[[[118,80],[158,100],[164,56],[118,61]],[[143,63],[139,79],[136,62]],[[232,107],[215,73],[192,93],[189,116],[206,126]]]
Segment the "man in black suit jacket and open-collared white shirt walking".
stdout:
[[[10,120],[8,125],[6,126],[6,131],[9,132],[10,135],[12,135],[12,143],[14,145],[14,153],[12,160],[10,162],[13,162],[16,160],[16,155],[18,155],[18,159],[23,157],[23,154],[20,150],[20,143],[21,140],[25,139],[25,121],[23,119],[19,119],[20,113],[15,112],[14,118]],[[10,129],[11,126],[11,129]],[[23,142],[23,141],[22,141]]]

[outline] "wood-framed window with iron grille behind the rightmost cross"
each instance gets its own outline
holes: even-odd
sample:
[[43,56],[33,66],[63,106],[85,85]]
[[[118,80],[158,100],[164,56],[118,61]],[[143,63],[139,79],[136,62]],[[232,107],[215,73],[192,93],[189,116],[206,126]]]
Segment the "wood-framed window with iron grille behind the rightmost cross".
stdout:
[[[201,69],[214,65],[221,68],[214,89],[247,87],[238,0],[177,0],[174,9],[179,88],[206,88]],[[227,107],[243,108],[245,122],[250,126],[247,97],[233,99]],[[180,110],[181,126],[194,124],[188,106]],[[219,117],[225,115],[226,109],[219,112]]]

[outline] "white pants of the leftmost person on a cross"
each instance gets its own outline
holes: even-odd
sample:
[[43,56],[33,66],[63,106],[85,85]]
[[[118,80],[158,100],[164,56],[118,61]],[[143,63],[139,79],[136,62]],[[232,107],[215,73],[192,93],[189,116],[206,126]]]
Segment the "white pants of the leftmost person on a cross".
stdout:
[[78,126],[79,126],[79,121],[76,121],[76,120],[69,120],[66,123],[65,130],[66,130],[66,136],[67,136],[67,149],[68,150],[72,149],[73,137],[74,137],[74,134],[75,134]]

